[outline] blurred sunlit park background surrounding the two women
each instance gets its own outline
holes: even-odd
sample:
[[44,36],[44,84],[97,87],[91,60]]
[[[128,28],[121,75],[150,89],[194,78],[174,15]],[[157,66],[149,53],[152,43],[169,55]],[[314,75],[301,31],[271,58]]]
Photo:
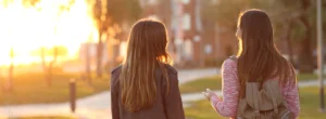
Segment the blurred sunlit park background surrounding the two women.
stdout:
[[[275,43],[297,69],[300,118],[325,118],[318,111],[316,1],[0,0],[0,119],[110,119],[110,70],[122,63],[129,30],[143,17],[167,27],[187,118],[222,118],[200,92],[221,94],[221,66],[237,53],[237,18],[247,9],[268,13]],[[326,0],[321,5],[325,29]],[[326,60],[326,49],[322,54]]]

